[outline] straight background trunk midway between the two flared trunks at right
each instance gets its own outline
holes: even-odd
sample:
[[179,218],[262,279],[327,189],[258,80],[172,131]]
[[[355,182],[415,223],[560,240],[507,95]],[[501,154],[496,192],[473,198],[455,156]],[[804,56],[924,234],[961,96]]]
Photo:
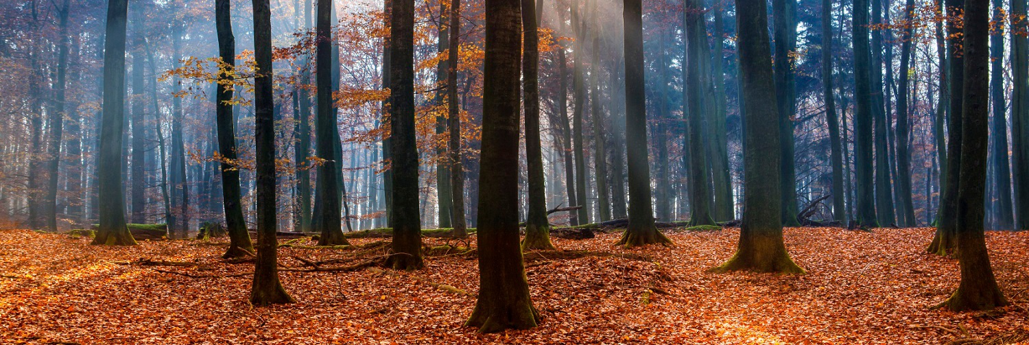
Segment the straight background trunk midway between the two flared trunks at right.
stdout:
[[854,44],[854,169],[857,179],[857,225],[863,229],[879,228],[876,217],[875,185],[873,184],[872,118],[872,53],[868,47],[868,0],[854,0],[851,30]]

